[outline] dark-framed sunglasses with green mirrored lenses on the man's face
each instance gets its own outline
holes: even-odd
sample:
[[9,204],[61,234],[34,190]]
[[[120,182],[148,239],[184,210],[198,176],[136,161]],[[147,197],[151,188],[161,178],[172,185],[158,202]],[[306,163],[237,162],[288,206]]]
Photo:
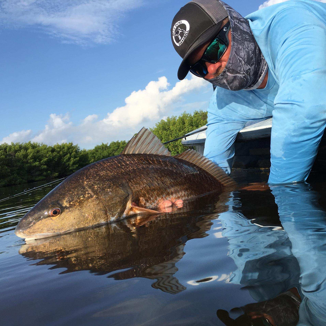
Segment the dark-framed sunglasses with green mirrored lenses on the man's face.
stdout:
[[208,70],[205,62],[216,63],[225,53],[228,45],[228,33],[230,30],[230,22],[228,22],[214,37],[213,41],[207,46],[202,57],[190,68],[190,72],[198,77],[205,77]]

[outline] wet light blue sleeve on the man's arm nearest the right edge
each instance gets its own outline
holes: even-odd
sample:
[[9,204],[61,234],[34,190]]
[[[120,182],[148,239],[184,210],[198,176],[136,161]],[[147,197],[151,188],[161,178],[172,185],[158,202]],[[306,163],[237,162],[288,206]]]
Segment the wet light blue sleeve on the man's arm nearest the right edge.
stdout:
[[326,26],[310,11],[291,7],[275,17],[270,33],[279,90],[269,183],[301,182],[311,170],[325,128]]

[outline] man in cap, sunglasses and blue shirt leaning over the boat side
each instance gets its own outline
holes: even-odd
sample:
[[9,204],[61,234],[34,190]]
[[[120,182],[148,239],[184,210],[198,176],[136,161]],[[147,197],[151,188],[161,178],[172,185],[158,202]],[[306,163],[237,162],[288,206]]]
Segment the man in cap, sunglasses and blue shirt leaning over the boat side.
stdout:
[[243,18],[219,0],[194,0],[173,19],[188,71],[217,86],[204,155],[230,173],[237,133],[273,116],[270,184],[306,180],[326,121],[326,4],[291,0]]

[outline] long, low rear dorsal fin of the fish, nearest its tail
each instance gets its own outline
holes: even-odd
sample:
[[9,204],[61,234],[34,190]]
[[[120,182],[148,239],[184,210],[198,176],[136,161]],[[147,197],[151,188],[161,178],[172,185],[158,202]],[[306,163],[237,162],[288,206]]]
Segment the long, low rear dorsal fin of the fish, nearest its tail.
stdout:
[[226,187],[236,185],[236,182],[231,177],[229,177],[217,164],[192,149],[188,149],[185,152],[173,157],[181,158],[187,162],[197,165]]

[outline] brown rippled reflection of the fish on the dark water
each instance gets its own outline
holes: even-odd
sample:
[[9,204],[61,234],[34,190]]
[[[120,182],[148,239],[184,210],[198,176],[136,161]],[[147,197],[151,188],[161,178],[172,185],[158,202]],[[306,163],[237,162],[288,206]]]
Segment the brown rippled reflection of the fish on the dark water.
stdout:
[[[219,206],[197,210],[190,216],[184,209],[154,219],[146,215],[143,222],[147,222],[134,231],[130,230],[130,225],[137,217],[38,239],[23,245],[19,253],[28,259],[42,259],[36,265],[54,265],[51,269],[66,268],[60,274],[88,270],[103,275],[116,271],[108,277],[116,280],[134,277],[153,279],[156,280],[153,288],[171,294],[179,293],[185,287],[174,277],[178,270],[175,263],[185,254],[185,242],[207,236],[211,220],[227,209],[224,203],[228,198],[229,193],[225,192],[215,198]],[[212,197],[200,200],[197,200],[197,207],[204,201],[212,202]],[[212,210],[216,213],[212,214]]]

